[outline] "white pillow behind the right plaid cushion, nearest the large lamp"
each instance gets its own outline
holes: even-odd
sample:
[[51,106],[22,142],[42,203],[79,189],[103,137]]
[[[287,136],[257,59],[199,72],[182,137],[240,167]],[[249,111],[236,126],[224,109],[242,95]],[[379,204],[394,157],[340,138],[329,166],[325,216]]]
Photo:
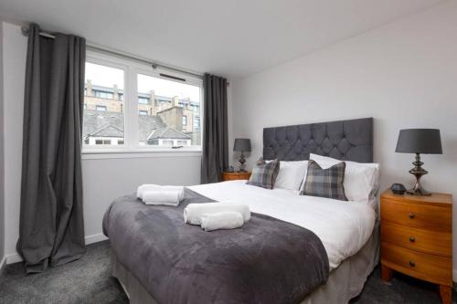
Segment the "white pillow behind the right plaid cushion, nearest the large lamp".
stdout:
[[[310,154],[310,160],[317,162],[323,169],[341,160],[317,154]],[[379,164],[364,162],[345,162],[345,196],[349,201],[366,202],[376,196],[379,186]]]

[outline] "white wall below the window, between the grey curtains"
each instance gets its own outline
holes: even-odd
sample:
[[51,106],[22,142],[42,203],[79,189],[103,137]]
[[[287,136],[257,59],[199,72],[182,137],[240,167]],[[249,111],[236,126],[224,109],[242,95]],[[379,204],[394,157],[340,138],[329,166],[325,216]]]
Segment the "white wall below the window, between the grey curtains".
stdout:
[[82,174],[86,239],[99,240],[101,218],[113,199],[142,183],[200,183],[200,156],[83,159]]

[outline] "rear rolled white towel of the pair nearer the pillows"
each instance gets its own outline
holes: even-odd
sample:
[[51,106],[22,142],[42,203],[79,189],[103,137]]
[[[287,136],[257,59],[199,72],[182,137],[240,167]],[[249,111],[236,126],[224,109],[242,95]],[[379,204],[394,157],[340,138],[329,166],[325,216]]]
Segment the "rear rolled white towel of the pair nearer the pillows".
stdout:
[[228,211],[239,212],[243,215],[244,222],[250,220],[250,207],[246,204],[205,203],[187,204],[184,209],[184,222],[191,225],[201,225],[202,215]]

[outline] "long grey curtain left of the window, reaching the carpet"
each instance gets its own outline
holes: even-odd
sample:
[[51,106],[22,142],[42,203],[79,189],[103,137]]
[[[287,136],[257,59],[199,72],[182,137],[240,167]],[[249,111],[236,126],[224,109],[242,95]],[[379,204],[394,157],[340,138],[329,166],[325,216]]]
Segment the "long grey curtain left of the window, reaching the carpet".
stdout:
[[82,257],[85,40],[29,27],[17,251],[27,273]]

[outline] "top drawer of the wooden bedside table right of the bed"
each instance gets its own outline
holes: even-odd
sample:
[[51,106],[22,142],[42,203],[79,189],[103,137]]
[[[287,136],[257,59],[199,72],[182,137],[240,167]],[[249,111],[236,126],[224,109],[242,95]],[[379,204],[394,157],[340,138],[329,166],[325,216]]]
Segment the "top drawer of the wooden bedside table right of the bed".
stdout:
[[399,225],[452,232],[452,213],[439,206],[381,199],[381,218]]

